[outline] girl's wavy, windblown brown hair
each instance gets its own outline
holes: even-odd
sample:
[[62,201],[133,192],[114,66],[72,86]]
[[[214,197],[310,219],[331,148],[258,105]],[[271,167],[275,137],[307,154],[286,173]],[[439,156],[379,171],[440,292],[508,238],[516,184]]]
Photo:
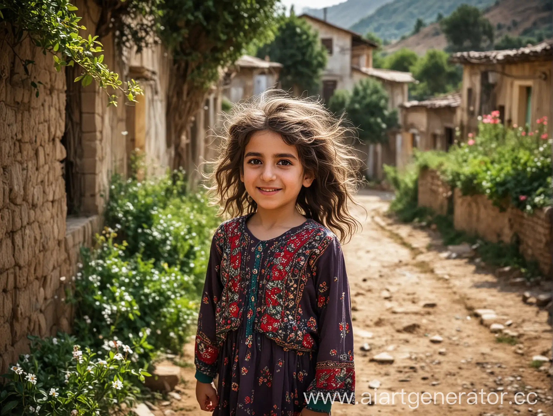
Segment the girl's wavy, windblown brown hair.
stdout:
[[286,144],[296,146],[304,170],[315,176],[311,186],[302,187],[298,195],[300,212],[339,234],[340,240],[349,241],[361,225],[348,210],[349,202],[360,207],[352,197],[361,182],[357,170],[360,160],[345,143],[352,129],[315,98],[295,98],[278,89],[237,104],[226,120],[218,158],[211,162],[215,167],[207,175],[212,184],[208,189],[213,204],[221,207],[220,214],[236,217],[257,209],[240,174],[246,145],[260,130],[272,130]]

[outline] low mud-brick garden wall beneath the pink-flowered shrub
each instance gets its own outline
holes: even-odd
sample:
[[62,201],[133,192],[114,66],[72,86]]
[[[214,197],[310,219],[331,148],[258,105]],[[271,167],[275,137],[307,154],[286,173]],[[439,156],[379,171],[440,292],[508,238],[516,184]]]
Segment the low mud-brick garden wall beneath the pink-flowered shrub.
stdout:
[[[436,171],[421,171],[419,206],[440,212],[439,209],[444,207],[444,202],[440,199],[444,193],[440,193],[440,189],[445,189],[447,185],[440,186],[439,182],[441,181]],[[500,212],[484,195],[462,196],[459,189],[453,192],[453,223],[456,229],[477,234],[492,242],[508,243],[517,234],[521,254],[526,260],[537,260],[545,276],[550,275],[552,267],[552,214],[551,207],[538,209],[532,215],[512,207]]]

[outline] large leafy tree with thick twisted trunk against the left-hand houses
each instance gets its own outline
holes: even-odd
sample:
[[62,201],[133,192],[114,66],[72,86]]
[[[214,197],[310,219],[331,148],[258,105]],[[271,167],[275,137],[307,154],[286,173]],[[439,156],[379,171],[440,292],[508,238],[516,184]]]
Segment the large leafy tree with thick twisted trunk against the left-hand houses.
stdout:
[[[175,165],[184,165],[181,139],[221,69],[257,39],[269,41],[276,26],[277,0],[164,0],[160,38],[171,52],[168,144]],[[163,29],[161,29],[163,28]]]

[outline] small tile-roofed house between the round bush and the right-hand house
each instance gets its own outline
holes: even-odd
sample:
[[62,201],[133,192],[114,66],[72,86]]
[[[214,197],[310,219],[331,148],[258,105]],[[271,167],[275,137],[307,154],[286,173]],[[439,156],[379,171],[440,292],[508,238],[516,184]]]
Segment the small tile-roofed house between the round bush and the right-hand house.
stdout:
[[406,166],[415,148],[447,151],[455,140],[455,128],[458,125],[457,109],[460,106],[460,92],[424,101],[401,103],[402,131],[396,147],[396,166]]

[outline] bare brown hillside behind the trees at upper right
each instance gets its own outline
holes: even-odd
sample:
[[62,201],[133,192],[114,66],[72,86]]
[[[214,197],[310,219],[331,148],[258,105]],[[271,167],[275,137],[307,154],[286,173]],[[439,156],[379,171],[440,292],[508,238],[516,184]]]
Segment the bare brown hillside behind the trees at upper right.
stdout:
[[[484,15],[495,28],[496,40],[506,34],[537,37],[541,33],[544,38],[553,35],[553,8],[550,0],[502,0]],[[391,53],[408,48],[424,55],[428,49],[444,49],[446,46],[447,41],[440,25],[433,23],[409,38],[385,46],[384,50]]]

